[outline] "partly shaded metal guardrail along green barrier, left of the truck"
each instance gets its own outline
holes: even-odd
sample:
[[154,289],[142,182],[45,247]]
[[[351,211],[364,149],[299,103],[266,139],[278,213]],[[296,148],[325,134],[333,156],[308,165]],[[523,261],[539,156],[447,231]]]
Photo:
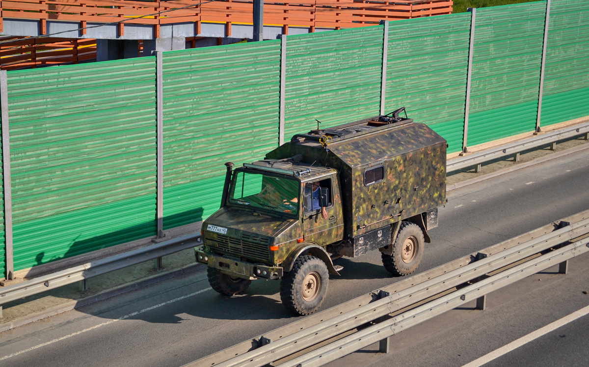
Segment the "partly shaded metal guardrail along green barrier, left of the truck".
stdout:
[[147,247],[138,248],[137,250],[57,271],[46,276],[33,278],[12,286],[2,287],[0,288],[0,305],[21,299],[22,297],[31,296],[32,294],[41,293],[42,291],[65,286],[76,281],[110,273],[111,271],[143,263],[144,261],[154,260],[177,253],[178,251],[193,248],[197,245],[194,244],[194,241],[200,242],[200,238],[200,234],[185,235],[174,240],[156,243]]

